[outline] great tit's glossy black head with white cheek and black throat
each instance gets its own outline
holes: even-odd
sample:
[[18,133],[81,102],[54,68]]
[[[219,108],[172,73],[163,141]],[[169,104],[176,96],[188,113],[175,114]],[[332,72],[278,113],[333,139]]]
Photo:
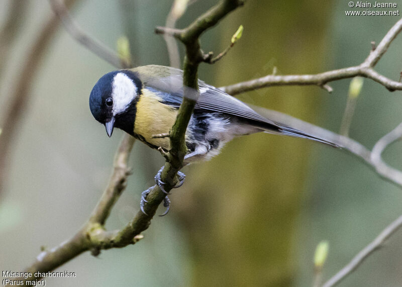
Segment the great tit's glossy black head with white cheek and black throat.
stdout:
[[133,134],[141,88],[141,80],[130,70],[107,73],[92,88],[89,109],[95,120],[105,125],[109,137],[114,127]]

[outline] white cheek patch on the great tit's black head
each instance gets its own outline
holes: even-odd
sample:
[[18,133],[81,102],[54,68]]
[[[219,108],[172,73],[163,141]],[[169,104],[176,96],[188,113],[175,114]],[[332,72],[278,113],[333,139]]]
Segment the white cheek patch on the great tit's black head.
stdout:
[[117,73],[112,83],[113,115],[123,112],[137,97],[137,87],[125,73]]

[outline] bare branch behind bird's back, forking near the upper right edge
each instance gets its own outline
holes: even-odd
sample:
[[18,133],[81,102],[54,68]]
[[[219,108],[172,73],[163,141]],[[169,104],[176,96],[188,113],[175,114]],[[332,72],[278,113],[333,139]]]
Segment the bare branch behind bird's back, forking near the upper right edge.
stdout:
[[355,76],[362,76],[380,83],[390,91],[402,90],[402,83],[389,79],[374,70],[374,66],[384,55],[391,42],[395,39],[395,37],[400,33],[401,30],[402,19],[396,22],[396,24],[386,33],[379,45],[375,48],[375,50],[370,52],[369,56],[364,60],[364,62],[357,66],[332,70],[319,74],[283,76],[267,75],[253,80],[224,86],[221,87],[221,89],[231,95],[235,95],[242,92],[269,86],[317,85],[331,92],[332,88],[328,86],[328,82],[351,78]]

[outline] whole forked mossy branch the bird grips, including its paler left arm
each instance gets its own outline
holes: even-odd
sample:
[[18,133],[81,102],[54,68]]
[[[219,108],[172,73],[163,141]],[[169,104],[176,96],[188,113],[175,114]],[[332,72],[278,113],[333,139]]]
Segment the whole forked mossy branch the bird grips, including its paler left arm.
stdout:
[[[53,2],[53,0],[50,1]],[[203,29],[208,29],[212,27],[212,25],[215,25],[220,18],[237,8],[239,6],[237,5],[238,3],[242,2],[237,0],[222,1],[215,8],[199,17],[196,22],[198,21],[200,25],[203,25]],[[66,12],[63,13],[64,17],[68,15]],[[218,14],[218,16],[216,14]],[[58,15],[61,17],[61,14]],[[208,19],[210,19],[210,17],[213,19],[213,23],[215,24],[209,22]],[[166,162],[164,172],[162,173],[162,180],[167,182],[165,186],[166,192],[169,192],[171,187],[174,186],[176,173],[181,168],[184,154],[186,153],[184,134],[195,105],[195,100],[190,100],[188,98],[192,97],[193,99],[194,90],[198,93],[197,67],[201,61],[201,58],[198,57],[200,53],[198,36],[202,33],[201,30],[202,29],[199,29],[194,25],[190,25],[189,28],[185,29],[189,34],[182,38],[183,43],[186,45],[183,77],[183,83],[186,87],[184,89],[185,98],[179,108],[176,121],[170,132],[169,138],[171,150],[165,154],[165,158],[168,159],[168,161]],[[194,33],[194,31],[196,33]],[[91,42],[95,43],[93,41]],[[91,45],[86,47],[93,51]],[[191,50],[193,47],[196,47],[196,50]],[[148,189],[149,194],[147,196],[147,204],[144,207],[147,214],[139,211],[134,219],[120,231],[108,232],[104,227],[104,223],[107,220],[111,209],[123,189],[126,187],[127,176],[130,173],[127,167],[127,161],[133,143],[133,137],[125,135],[115,156],[113,165],[114,169],[108,187],[93,210],[88,222],[69,240],[63,242],[57,247],[40,253],[37,256],[36,261],[27,268],[28,272],[34,274],[36,271],[51,271],[84,251],[91,250],[92,254],[96,256],[102,249],[124,247],[129,244],[134,244],[142,238],[140,233],[148,228],[157,208],[166,196],[157,185]],[[33,276],[30,278],[19,279],[27,281],[39,278],[40,277]]]

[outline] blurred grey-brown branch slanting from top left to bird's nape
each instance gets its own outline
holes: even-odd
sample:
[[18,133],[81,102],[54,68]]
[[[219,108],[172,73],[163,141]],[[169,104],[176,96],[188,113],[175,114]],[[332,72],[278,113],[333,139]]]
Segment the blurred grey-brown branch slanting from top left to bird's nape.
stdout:
[[49,0],[49,3],[54,11],[54,13],[60,18],[62,21],[64,28],[66,31],[73,37],[78,43],[82,44],[94,54],[96,54],[99,58],[104,59],[109,62],[113,66],[117,68],[129,67],[130,64],[121,63],[122,59],[119,58],[117,53],[113,50],[109,49],[99,41],[93,39],[86,33],[84,33],[78,25],[74,22],[74,20],[70,17],[67,8],[64,6],[62,2],[59,0]]

